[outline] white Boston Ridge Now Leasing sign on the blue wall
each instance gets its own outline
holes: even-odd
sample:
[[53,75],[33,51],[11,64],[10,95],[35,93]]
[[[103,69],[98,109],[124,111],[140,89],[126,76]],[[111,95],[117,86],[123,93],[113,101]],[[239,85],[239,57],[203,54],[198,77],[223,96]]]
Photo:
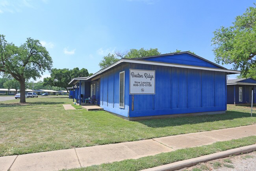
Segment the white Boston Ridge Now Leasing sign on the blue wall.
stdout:
[[130,69],[130,95],[155,94],[155,71]]

